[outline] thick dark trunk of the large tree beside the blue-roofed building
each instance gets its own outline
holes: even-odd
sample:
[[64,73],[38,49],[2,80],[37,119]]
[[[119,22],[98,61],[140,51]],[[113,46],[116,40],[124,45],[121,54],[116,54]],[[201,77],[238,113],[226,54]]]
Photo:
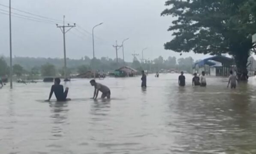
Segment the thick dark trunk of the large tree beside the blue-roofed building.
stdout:
[[241,46],[236,46],[232,54],[235,58],[236,64],[236,73],[238,81],[247,81],[248,80],[248,71],[247,71],[247,62],[249,58],[250,49],[244,48]]

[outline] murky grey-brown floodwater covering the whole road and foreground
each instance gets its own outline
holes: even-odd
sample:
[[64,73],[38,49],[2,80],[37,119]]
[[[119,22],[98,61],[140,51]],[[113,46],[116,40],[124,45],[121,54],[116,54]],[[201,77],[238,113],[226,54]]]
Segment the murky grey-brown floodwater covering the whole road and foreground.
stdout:
[[110,101],[90,100],[87,79],[66,84],[66,103],[42,101],[51,83],[6,86],[0,154],[256,154],[256,78],[231,90],[226,78],[192,87],[190,74],[181,88],[178,75],[149,75],[147,89],[140,77],[99,80]]

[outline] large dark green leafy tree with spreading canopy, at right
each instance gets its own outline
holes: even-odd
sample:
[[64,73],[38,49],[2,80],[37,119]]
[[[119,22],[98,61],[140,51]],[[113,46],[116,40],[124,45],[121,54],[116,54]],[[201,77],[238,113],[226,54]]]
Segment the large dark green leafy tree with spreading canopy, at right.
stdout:
[[[238,75],[247,74],[247,59],[256,33],[255,0],[168,0],[161,15],[174,17],[169,31],[174,38],[165,49],[176,52],[228,53]],[[254,6],[254,7],[253,7]]]

